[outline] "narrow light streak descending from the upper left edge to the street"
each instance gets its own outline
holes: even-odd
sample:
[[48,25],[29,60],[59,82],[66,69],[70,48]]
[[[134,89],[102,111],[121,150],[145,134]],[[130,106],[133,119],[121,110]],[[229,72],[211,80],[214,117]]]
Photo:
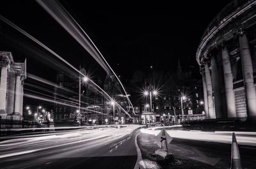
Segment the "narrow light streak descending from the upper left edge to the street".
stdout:
[[[24,34],[26,37],[28,37],[30,40],[35,41],[35,43],[37,43],[38,45],[40,45],[41,47],[45,48],[45,50],[47,50],[48,52],[50,52],[52,55],[56,56],[58,59],[60,59],[61,61],[65,62],[65,64],[67,64],[68,66],[70,66],[70,68],[72,68],[73,70],[77,71],[77,73],[79,73],[79,75],[82,75],[83,77],[85,77],[85,75],[83,73],[81,73],[81,71],[77,70],[74,66],[72,66],[72,64],[70,64],[69,62],[67,62],[65,59],[63,59],[60,55],[56,54],[55,52],[53,52],[50,48],[48,48],[47,46],[45,46],[42,42],[36,40],[36,38],[34,38],[33,36],[31,36],[30,34],[26,33],[26,31],[24,31],[23,29],[20,29],[20,27],[16,26],[15,24],[13,24],[12,22],[10,22],[10,20],[4,18],[3,16],[0,15],[0,20],[2,20],[4,23],[8,24],[9,26],[13,27],[13,29],[19,31],[20,33]],[[107,96],[106,99],[113,101],[113,98],[111,98],[109,96],[109,94],[107,92],[105,92],[99,85],[95,84],[95,82],[93,82],[90,78],[88,78],[88,81],[90,83],[92,83],[93,85],[95,85],[96,87],[98,87],[98,89],[101,91],[100,94],[102,94],[102,96]],[[124,110],[123,107],[121,107],[118,103],[116,103],[116,107],[119,107],[121,110],[123,110],[125,112],[125,114],[127,114],[130,118],[131,115],[128,114],[128,112],[126,112]]]

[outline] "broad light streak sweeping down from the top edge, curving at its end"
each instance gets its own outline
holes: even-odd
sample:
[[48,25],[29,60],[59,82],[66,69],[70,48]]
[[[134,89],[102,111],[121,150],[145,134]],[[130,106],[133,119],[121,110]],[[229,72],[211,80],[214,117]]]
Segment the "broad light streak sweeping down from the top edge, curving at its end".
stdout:
[[[100,53],[99,49],[90,39],[88,34],[85,33],[82,27],[79,26],[76,20],[70,15],[70,13],[68,13],[68,11],[65,10],[65,8],[58,1],[36,0],[36,2],[40,4],[40,6],[42,6],[42,8],[44,8],[44,10],[47,11],[47,13],[49,13],[49,15],[51,15],[51,17],[54,18],[90,55],[92,55],[93,59],[95,59],[95,61],[97,61],[109,75],[111,75],[111,73],[115,75],[125,92],[125,96],[127,96],[124,85],[116,75],[115,71],[113,71],[111,66],[109,66],[108,62]],[[129,103],[129,108],[131,106],[132,113],[135,114],[131,100],[128,97],[126,98]]]

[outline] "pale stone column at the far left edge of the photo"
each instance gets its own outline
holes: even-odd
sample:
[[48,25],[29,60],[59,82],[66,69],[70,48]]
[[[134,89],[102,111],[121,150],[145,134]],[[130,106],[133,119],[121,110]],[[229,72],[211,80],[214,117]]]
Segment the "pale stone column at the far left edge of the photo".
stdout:
[[7,66],[8,62],[1,62],[0,114],[4,119],[6,118]]

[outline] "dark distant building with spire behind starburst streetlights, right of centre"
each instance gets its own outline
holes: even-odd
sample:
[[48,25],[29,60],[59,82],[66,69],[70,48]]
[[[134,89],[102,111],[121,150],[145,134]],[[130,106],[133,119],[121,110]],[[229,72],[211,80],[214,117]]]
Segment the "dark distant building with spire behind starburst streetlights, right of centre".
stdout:
[[[160,79],[164,79],[164,82]],[[182,101],[185,120],[189,120],[195,115],[196,117],[202,115],[204,108],[202,81],[192,78],[191,71],[182,71],[179,61],[176,73],[153,71],[153,73],[143,75],[143,73],[137,71],[134,73],[131,84],[133,86],[131,90],[138,89],[138,86],[141,86],[140,90],[138,89],[137,92],[132,94],[132,103],[134,103],[136,112],[138,111],[138,114],[140,114],[140,121],[143,124],[147,121],[166,123],[179,118],[182,115],[180,102],[182,94],[186,96],[186,100]],[[157,96],[152,94],[152,111],[150,110],[150,97],[143,96],[143,87],[145,88],[143,90],[151,91],[159,87]],[[174,117],[175,115],[176,117]],[[200,117],[200,119],[202,118]]]

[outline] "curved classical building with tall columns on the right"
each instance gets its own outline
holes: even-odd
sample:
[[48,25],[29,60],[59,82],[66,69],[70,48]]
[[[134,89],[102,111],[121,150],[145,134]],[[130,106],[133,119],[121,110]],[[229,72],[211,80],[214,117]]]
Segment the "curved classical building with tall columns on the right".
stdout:
[[256,1],[225,6],[205,30],[196,61],[208,119],[256,117]]

